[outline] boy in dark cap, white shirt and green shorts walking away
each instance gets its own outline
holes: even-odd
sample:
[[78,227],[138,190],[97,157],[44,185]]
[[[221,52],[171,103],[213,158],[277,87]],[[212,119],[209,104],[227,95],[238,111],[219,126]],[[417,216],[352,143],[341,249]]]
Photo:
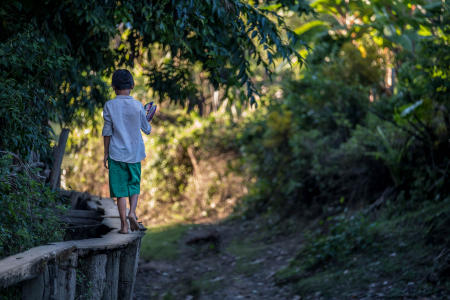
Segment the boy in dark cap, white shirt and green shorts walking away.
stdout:
[[128,220],[131,230],[139,230],[136,206],[140,193],[141,160],[145,158],[141,130],[148,135],[152,127],[142,104],[130,96],[134,88],[131,73],[125,69],[115,71],[111,85],[117,96],[107,101],[103,108],[103,164],[109,171],[111,197],[117,197],[121,223],[119,233],[127,234],[127,197],[130,202]]

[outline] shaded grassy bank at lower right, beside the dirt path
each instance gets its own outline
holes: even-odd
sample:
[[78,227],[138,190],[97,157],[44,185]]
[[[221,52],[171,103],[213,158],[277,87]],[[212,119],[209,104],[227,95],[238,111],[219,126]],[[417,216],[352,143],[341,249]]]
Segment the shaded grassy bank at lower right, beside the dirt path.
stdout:
[[408,212],[388,207],[376,220],[326,220],[276,281],[302,297],[317,292],[326,298],[449,296],[446,258],[437,260],[447,249],[445,215],[450,215],[450,201]]

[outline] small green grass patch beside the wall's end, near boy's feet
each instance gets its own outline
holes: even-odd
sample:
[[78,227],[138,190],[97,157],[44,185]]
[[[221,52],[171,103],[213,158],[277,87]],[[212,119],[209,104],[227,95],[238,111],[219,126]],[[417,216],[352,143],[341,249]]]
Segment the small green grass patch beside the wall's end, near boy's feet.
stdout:
[[194,225],[174,224],[149,228],[142,238],[140,256],[145,260],[178,258],[179,241]]

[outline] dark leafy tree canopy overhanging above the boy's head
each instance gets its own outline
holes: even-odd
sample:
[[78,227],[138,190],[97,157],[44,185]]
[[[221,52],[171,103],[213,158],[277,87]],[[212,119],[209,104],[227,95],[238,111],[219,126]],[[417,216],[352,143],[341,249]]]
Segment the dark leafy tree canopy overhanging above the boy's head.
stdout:
[[[276,2],[308,10],[302,1]],[[182,70],[195,63],[215,87],[245,85],[254,99],[251,60],[270,72],[275,57],[302,59],[293,48],[296,35],[282,17],[238,0],[8,1],[1,5],[0,16],[1,40],[32,23],[43,38],[73,58],[72,68],[58,78],[71,90],[62,97],[63,106],[70,106],[71,98],[93,84],[86,78],[109,74],[117,65],[132,66],[155,43],[170,59],[149,68],[150,85],[178,102],[184,98],[173,90],[186,96],[183,89],[189,78]],[[69,112],[64,121],[71,117]]]

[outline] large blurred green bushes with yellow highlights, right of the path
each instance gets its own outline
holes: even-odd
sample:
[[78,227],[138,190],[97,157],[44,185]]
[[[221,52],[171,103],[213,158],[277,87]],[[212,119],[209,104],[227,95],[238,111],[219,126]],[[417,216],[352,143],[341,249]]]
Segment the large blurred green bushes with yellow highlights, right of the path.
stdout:
[[[417,201],[444,199],[449,193],[449,27],[441,13],[448,15],[448,7],[402,6],[425,32],[402,37],[414,43],[409,49],[380,32],[406,26],[399,19],[364,18],[367,11],[353,5],[316,5],[324,20],[339,18],[329,12],[337,7],[362,24],[355,21],[340,33],[309,32],[317,45],[301,80],[285,75],[279,87],[283,96],[269,94],[268,109],[247,121],[239,140],[243,160],[257,177],[248,198],[262,210],[286,211],[373,201],[389,187]],[[380,13],[376,5],[370,7]],[[395,68],[386,66],[388,60]],[[390,84],[388,70],[395,75]]]

